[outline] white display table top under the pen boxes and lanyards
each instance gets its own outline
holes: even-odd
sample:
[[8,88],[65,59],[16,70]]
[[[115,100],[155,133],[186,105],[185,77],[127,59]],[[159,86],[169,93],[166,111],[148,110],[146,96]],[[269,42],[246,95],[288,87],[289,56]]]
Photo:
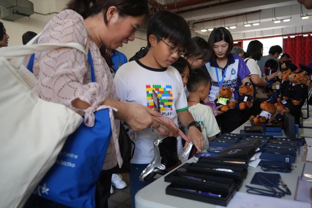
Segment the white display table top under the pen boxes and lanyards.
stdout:
[[[250,126],[250,122],[247,121],[243,125],[241,125],[239,128],[235,129],[232,133],[240,133],[240,130],[244,128],[244,126]],[[283,131],[283,137],[285,137],[284,131]],[[302,157],[297,157],[295,161],[295,169],[290,173],[279,173],[281,175],[282,180],[287,184],[291,191],[291,195],[286,195],[283,197],[283,199],[289,199],[294,200],[295,197],[295,190],[297,185],[297,178],[301,175],[304,162],[301,162]],[[187,162],[196,162],[194,158],[189,159]],[[178,168],[178,167],[177,167]],[[175,168],[175,169],[177,169]],[[245,185],[250,185],[250,181],[254,174],[256,172],[262,172],[261,168],[257,166],[254,167],[248,167],[248,175],[243,182],[243,185],[241,186],[239,192],[245,192],[246,193],[246,187]],[[273,172],[277,173],[277,172]],[[190,199],[185,199],[182,197],[176,197],[176,196],[170,196],[166,195],[166,187],[170,183],[164,181],[164,176],[160,177],[153,183],[149,184],[148,186],[145,186],[143,189],[138,191],[138,193],[135,195],[135,207],[136,208],[173,208],[173,207],[179,207],[179,208],[191,208],[191,207],[205,207],[205,208],[214,208],[217,207],[217,205],[214,204],[208,204],[200,201],[194,201]],[[252,194],[250,194],[252,195]],[[233,198],[236,196],[234,195]],[[266,196],[268,197],[268,196]],[[273,197],[268,197],[270,199],[275,199]],[[299,203],[299,202],[298,202]],[[301,202],[300,202],[301,203]]]

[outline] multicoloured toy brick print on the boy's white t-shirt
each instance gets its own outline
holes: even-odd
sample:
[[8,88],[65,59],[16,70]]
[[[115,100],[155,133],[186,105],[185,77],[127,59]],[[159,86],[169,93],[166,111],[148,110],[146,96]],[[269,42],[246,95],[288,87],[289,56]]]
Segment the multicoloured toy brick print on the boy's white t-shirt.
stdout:
[[154,109],[154,101],[152,98],[152,90],[155,90],[157,96],[159,97],[160,111],[172,111],[172,102],[173,102],[173,92],[172,86],[166,85],[162,87],[161,85],[146,85],[146,105],[147,107]]

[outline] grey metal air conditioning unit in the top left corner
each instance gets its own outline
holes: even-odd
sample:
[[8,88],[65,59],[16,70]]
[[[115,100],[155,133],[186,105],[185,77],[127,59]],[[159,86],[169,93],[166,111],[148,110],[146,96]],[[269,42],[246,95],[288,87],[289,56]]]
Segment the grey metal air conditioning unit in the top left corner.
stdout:
[[34,4],[28,0],[0,0],[0,18],[15,21],[34,13]]

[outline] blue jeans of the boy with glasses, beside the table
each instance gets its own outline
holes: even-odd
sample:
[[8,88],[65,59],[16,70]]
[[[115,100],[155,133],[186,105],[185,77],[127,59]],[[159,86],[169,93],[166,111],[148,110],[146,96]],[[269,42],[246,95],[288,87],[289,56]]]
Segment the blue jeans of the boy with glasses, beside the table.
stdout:
[[130,172],[129,172],[129,179],[130,179],[130,195],[131,195],[131,206],[135,208],[134,203],[134,196],[136,192],[140,189],[144,188],[145,186],[149,185],[153,181],[139,181],[139,176],[142,171],[148,166],[148,164],[130,164]]

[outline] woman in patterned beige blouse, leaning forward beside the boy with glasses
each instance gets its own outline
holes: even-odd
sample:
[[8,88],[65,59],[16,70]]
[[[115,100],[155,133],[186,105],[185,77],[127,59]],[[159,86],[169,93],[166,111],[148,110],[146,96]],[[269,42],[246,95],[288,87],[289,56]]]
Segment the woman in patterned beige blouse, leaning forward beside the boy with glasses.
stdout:
[[[147,0],[71,0],[67,9],[52,18],[37,39],[38,45],[78,43],[88,49],[88,58],[81,50],[66,46],[36,52],[31,69],[37,78],[39,97],[63,104],[84,116],[85,126],[96,125],[96,112],[103,109],[113,112],[108,118],[112,136],[105,151],[104,170],[116,165],[120,167],[122,164],[118,144],[119,120],[124,120],[134,131],[156,128],[163,135],[177,136],[160,127],[157,121],[161,119],[178,129],[171,119],[145,106],[118,101],[113,75],[99,51],[102,45],[116,49],[123,43],[133,41],[134,32],[139,29],[148,12]],[[187,140],[183,133],[179,134]],[[61,154],[65,157],[79,158],[69,152]],[[73,163],[56,162],[63,166],[75,167]],[[109,180],[110,177],[108,176]],[[110,189],[110,185],[108,187]],[[40,184],[39,189],[46,194],[49,191],[45,184]],[[51,201],[47,200],[41,207],[47,207],[50,203]],[[68,203],[66,206],[85,206]]]

